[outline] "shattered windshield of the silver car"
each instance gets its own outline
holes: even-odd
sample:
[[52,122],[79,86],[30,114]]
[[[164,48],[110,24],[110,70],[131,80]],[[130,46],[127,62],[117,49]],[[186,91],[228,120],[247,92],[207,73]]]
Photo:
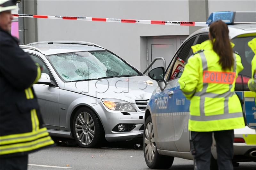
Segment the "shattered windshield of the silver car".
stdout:
[[140,75],[108,51],[84,51],[48,56],[65,81]]

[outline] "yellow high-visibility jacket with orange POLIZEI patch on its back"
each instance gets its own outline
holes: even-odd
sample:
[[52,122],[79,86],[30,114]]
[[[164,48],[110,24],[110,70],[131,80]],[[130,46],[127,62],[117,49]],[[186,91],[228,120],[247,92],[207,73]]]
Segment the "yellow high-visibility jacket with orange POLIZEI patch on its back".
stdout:
[[234,53],[232,69],[222,70],[210,40],[191,48],[194,55],[188,59],[179,79],[180,89],[190,100],[188,130],[211,132],[243,128],[242,107],[234,92],[237,74],[244,69],[240,56]]

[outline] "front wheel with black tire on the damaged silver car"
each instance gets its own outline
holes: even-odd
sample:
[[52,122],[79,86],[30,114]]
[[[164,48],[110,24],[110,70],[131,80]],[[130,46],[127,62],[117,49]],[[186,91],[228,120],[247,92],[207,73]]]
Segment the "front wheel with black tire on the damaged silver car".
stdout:
[[72,132],[76,143],[83,148],[97,148],[102,144],[104,129],[100,119],[89,108],[79,108],[73,119]]

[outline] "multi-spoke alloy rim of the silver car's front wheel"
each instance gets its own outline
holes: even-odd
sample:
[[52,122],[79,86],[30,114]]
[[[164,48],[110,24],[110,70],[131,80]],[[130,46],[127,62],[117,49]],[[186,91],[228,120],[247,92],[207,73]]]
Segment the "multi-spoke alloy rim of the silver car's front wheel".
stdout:
[[91,115],[88,112],[80,112],[75,121],[75,132],[78,141],[89,145],[94,137],[95,127]]

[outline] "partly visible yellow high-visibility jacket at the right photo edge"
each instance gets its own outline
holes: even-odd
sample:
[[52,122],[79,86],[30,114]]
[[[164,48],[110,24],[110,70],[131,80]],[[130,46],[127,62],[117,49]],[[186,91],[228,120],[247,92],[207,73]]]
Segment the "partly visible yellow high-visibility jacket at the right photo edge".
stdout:
[[256,92],[256,38],[253,38],[251,41],[249,41],[248,46],[251,47],[255,54],[252,58],[252,78],[248,81],[248,87],[251,91]]

